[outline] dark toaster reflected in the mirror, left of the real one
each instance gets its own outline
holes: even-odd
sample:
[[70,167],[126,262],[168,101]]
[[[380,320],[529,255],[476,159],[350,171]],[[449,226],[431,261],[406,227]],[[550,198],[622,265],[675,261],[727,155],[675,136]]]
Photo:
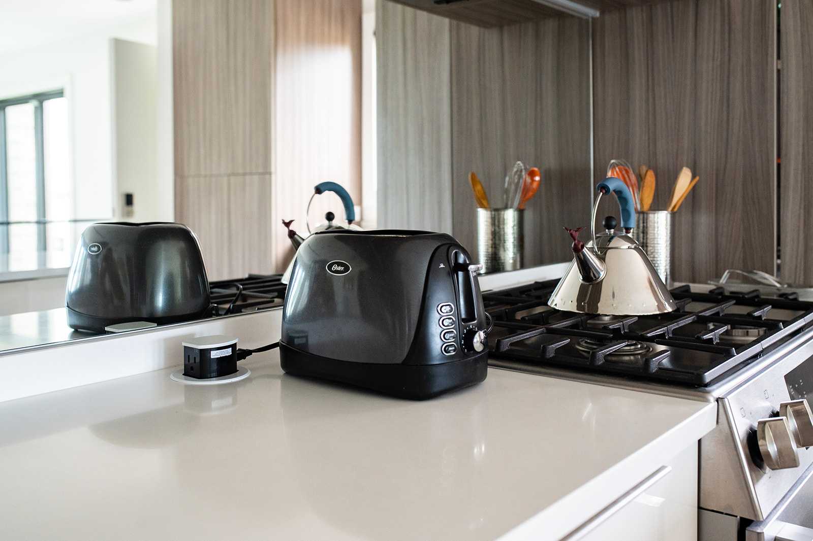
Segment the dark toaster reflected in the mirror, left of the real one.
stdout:
[[198,239],[180,223],[93,223],[76,246],[65,305],[80,331],[202,318],[211,302]]

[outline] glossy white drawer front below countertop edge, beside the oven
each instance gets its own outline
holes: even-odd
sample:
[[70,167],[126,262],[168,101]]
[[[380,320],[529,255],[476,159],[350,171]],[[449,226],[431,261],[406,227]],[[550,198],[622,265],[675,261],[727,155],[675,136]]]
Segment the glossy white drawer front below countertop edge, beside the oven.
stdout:
[[698,447],[692,445],[597,513],[567,541],[694,541]]

